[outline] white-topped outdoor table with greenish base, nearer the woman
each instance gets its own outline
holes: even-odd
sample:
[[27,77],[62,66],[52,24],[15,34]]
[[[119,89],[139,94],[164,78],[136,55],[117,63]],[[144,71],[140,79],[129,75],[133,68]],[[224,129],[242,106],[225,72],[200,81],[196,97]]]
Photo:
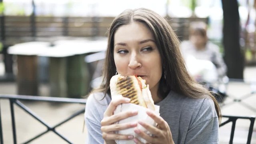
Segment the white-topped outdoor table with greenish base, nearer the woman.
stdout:
[[61,40],[39,56],[50,57],[50,95],[80,98],[88,94],[90,73],[87,54],[106,50],[103,40]]

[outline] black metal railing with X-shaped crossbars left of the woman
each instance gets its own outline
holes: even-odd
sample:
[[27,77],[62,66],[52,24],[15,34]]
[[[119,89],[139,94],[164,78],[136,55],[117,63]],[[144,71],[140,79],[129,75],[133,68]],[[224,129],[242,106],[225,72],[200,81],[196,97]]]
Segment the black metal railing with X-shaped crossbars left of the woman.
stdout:
[[[56,135],[58,135],[60,138],[62,138],[64,141],[68,142],[69,144],[72,144],[70,140],[65,138],[62,134],[56,131],[56,128],[72,118],[84,114],[85,108],[82,108],[81,110],[78,110],[77,112],[74,112],[71,116],[68,118],[62,120],[55,126],[50,126],[47,124],[42,118],[37,116],[32,110],[30,110],[27,106],[25,106],[20,100],[30,100],[30,101],[44,101],[44,102],[62,102],[62,103],[77,103],[77,104],[86,104],[86,99],[77,99],[77,98],[57,98],[57,97],[44,97],[44,96],[20,96],[20,95],[0,95],[0,100],[1,99],[9,99],[10,101],[10,110],[11,110],[11,119],[12,119],[12,135],[13,135],[13,142],[14,144],[17,144],[17,139],[16,139],[16,126],[15,126],[15,117],[14,117],[14,104],[19,106],[21,109],[23,109],[25,112],[30,114],[34,119],[36,119],[38,122],[46,126],[47,130],[44,132],[41,132],[40,134],[37,134],[33,138],[30,138],[26,142],[23,142],[22,144],[27,144],[29,142],[32,142],[33,140],[39,138],[40,136],[46,134],[47,132],[53,132]],[[1,119],[1,108],[0,108],[0,144],[3,144],[3,132],[2,132],[2,119]]]

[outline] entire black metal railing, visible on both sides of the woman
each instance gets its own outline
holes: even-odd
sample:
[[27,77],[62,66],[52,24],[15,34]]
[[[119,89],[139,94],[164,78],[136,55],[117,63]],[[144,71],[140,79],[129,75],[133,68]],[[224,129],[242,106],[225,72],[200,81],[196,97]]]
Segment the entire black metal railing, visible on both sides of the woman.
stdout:
[[[10,109],[11,109],[11,117],[12,117],[12,133],[13,133],[13,141],[14,144],[17,144],[17,140],[16,140],[16,127],[15,127],[15,118],[14,118],[14,104],[16,104],[17,106],[19,106],[20,108],[22,108],[25,112],[27,112],[28,114],[30,114],[33,118],[35,118],[36,120],[38,120],[40,123],[42,123],[44,126],[47,127],[47,130],[45,130],[44,132],[41,132],[40,134],[34,136],[33,138],[31,138],[30,140],[27,140],[26,142],[23,142],[22,144],[27,144],[29,142],[32,142],[33,140],[35,140],[36,138],[39,138],[40,136],[46,134],[47,132],[54,132],[56,135],[58,135],[60,138],[62,138],[64,141],[68,142],[69,144],[72,144],[72,142],[70,142],[67,138],[65,138],[64,136],[62,136],[59,132],[57,132],[55,129],[64,124],[65,122],[68,122],[69,120],[71,120],[72,118],[83,114],[84,113],[84,108],[82,110],[79,110],[77,112],[75,112],[74,114],[72,114],[71,116],[69,116],[68,118],[66,118],[65,120],[62,120],[61,122],[59,122],[58,124],[56,124],[55,126],[49,126],[46,122],[44,122],[44,120],[42,118],[40,118],[39,116],[37,116],[34,112],[32,112],[28,107],[26,107],[24,104],[22,104],[22,102],[20,102],[20,100],[32,100],[32,101],[45,101],[45,102],[64,102],[64,103],[78,103],[78,104],[86,104],[86,99],[76,99],[76,98],[57,98],[57,97],[43,97],[43,96],[20,96],[20,95],[0,95],[0,100],[1,99],[9,99],[10,100]],[[0,107],[1,108],[1,107]],[[248,138],[247,138],[247,143],[246,144],[250,144],[251,139],[252,139],[252,132],[253,132],[253,126],[254,126],[254,122],[255,122],[255,116],[251,116],[251,117],[245,117],[245,116],[223,116],[223,118],[228,118],[228,120],[226,120],[225,122],[222,122],[220,124],[221,126],[224,126],[225,124],[228,124],[229,122],[232,122],[232,128],[231,128],[231,134],[230,134],[230,142],[229,144],[233,143],[233,139],[234,139],[234,131],[235,131],[235,127],[236,127],[236,120],[238,119],[247,119],[250,120],[250,127],[248,130]],[[3,144],[3,132],[2,132],[2,119],[1,119],[1,109],[0,109],[0,144]]]

